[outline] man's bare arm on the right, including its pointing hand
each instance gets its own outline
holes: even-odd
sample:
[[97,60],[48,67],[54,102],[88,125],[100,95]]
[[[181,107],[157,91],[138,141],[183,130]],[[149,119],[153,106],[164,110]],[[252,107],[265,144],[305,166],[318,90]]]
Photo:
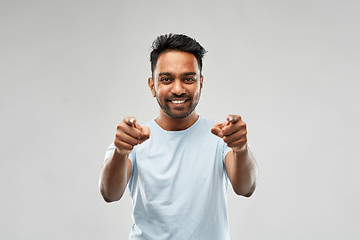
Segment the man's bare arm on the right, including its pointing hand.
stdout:
[[246,124],[238,115],[229,115],[227,122],[217,123],[211,132],[232,149],[225,157],[225,169],[238,195],[250,197],[255,191],[258,167],[247,144]]

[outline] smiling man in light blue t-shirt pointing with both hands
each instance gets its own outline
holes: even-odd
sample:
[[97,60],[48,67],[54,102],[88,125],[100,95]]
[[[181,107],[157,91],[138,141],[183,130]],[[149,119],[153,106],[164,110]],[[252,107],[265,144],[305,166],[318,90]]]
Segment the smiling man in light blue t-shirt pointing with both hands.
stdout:
[[159,36],[148,85],[160,106],[144,126],[126,117],[118,126],[100,174],[105,201],[128,184],[134,205],[129,239],[230,239],[226,193],[255,190],[257,165],[238,115],[215,123],[197,115],[205,49],[181,35]]

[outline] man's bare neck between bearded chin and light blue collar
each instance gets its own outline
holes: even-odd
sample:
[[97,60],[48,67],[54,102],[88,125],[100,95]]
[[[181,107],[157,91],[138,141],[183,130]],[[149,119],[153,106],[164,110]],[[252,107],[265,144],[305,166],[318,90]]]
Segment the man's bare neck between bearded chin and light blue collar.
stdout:
[[159,117],[155,119],[155,122],[166,131],[181,131],[191,127],[198,118],[195,110],[186,118],[173,118],[160,110]]

